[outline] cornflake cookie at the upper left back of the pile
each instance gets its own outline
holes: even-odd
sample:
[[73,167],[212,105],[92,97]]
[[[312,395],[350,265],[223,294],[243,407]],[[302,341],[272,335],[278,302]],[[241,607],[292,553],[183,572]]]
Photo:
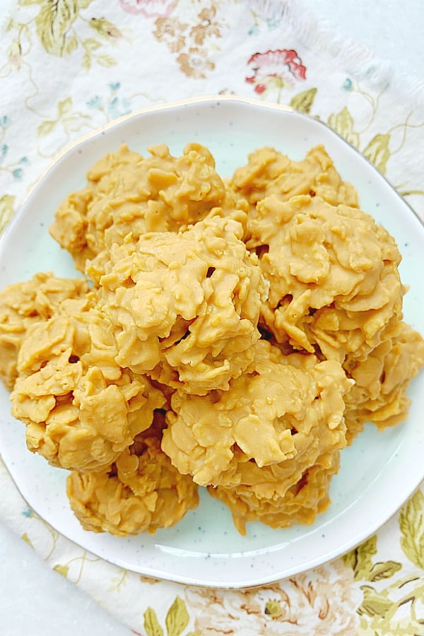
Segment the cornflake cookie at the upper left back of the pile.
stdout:
[[[90,168],[86,187],[57,210],[50,232],[91,278],[100,276],[107,249],[145,232],[176,232],[225,206],[230,192],[207,148],[189,143],[178,158],[165,144],[142,157],[125,145]],[[94,259],[94,262],[92,262]]]

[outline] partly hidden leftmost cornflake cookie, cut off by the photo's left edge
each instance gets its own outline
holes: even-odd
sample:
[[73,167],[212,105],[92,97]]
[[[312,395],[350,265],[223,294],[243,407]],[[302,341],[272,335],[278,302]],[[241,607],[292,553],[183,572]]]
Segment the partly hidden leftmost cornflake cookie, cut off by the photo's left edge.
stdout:
[[85,278],[57,278],[52,272],[0,291],[0,379],[6,389],[11,391],[18,377],[18,353],[30,325],[51,318],[64,300],[87,293]]

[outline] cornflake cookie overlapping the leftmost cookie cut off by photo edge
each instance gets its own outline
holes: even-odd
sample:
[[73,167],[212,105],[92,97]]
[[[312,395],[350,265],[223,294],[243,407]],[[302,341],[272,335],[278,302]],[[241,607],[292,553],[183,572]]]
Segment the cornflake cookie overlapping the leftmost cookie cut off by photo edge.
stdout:
[[69,470],[110,465],[165,404],[147,377],[117,365],[111,326],[93,302],[64,304],[28,329],[11,393],[30,451]]

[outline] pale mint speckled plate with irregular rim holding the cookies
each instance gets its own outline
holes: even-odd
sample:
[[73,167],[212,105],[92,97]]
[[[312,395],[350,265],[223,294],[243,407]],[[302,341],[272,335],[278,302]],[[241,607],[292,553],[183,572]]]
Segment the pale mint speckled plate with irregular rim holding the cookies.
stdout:
[[[295,160],[324,143],[343,179],[358,189],[361,207],[394,235],[403,255],[401,277],[411,290],[405,319],[422,331],[424,228],[405,201],[370,163],[317,120],[290,109],[233,98],[193,100],[119,119],[83,139],[47,170],[0,242],[0,288],[52,269],[75,276],[71,257],[47,231],[61,200],[83,187],[88,168],[126,142],[146,154],[160,142],[179,154],[189,141],[204,143],[220,175],[230,176],[247,154],[274,146]],[[120,567],[172,581],[213,587],[248,587],[294,575],[336,558],[373,534],[399,509],[424,478],[424,374],[411,384],[408,420],[384,433],[372,425],[341,453],[331,483],[331,506],[312,526],[272,530],[248,524],[235,531],[230,512],[207,493],[173,529],[154,536],[117,538],[83,531],[65,493],[66,472],[53,469],[25,447],[24,426],[10,415],[2,389],[0,451],[20,493],[61,534]]]

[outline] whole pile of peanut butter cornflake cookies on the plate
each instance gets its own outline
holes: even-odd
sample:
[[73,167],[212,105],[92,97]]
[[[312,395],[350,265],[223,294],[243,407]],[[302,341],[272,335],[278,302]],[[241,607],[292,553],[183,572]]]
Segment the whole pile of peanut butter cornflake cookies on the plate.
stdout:
[[228,182],[199,144],[149,153],[110,153],[59,207],[81,276],[0,293],[13,416],[87,530],[172,526],[199,486],[242,534],[310,524],[341,449],[408,413],[424,341],[399,250],[322,146],[261,148]]

